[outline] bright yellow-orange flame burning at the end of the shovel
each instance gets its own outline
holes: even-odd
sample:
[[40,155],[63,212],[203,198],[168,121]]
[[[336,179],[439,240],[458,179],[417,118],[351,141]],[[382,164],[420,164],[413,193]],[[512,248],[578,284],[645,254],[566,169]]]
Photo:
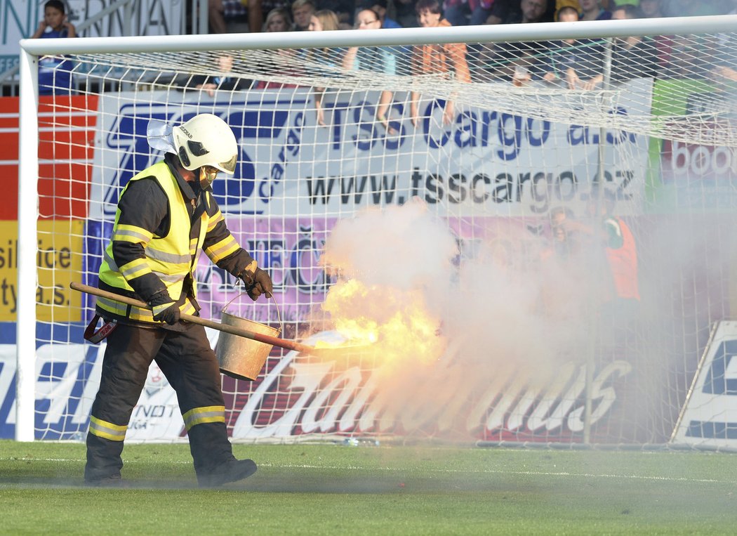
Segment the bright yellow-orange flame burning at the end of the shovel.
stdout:
[[330,288],[323,309],[346,338],[338,347],[363,345],[381,363],[433,363],[444,351],[440,319],[427,310],[420,289],[349,279]]

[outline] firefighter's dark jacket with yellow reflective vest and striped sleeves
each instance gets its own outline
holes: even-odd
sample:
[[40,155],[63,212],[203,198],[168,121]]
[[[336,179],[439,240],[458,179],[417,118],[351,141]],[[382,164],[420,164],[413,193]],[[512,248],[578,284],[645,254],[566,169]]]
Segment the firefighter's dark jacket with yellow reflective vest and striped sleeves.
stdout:
[[[164,173],[155,164],[131,179],[123,190],[111,244],[105,250],[100,268],[99,288],[144,302],[162,290],[169,290],[171,298],[180,304],[181,312],[197,314],[200,307],[195,299],[194,273],[200,241],[201,249],[210,260],[234,276],[239,276],[247,268],[251,272],[255,271],[256,261],[232,237],[212,189],[200,189],[198,184],[193,188],[175,169],[175,159],[176,156],[167,154]],[[146,175],[152,170],[158,170],[159,175],[164,176]],[[171,183],[167,184],[166,181]],[[170,193],[167,194],[162,182]],[[178,192],[181,192],[181,196]],[[180,203],[179,206],[177,203]],[[172,220],[177,220],[182,208],[186,209],[189,222],[185,221],[184,225],[178,226],[180,228],[172,229]],[[173,212],[176,210],[180,212]],[[186,236],[172,233],[184,233]],[[180,244],[181,240],[186,240],[188,259],[184,263],[181,258],[178,263],[172,260],[172,265],[167,266],[167,256],[156,255],[152,251],[161,249],[154,247],[157,240],[167,243],[167,240],[174,238]],[[148,254],[147,246],[150,246]],[[166,250],[165,245],[163,248]],[[170,257],[176,256],[172,254]],[[167,281],[164,282],[162,278]],[[98,299],[97,313],[106,319],[153,324],[150,311],[113,300]],[[156,327],[176,329],[177,324],[168,326],[156,323]]]

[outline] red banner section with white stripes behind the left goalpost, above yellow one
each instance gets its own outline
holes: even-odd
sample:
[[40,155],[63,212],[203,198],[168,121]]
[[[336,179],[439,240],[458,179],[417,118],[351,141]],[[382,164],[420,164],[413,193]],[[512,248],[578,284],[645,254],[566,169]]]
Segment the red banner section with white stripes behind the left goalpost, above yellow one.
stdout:
[[[42,219],[87,217],[97,95],[41,97],[38,192]],[[0,98],[0,173],[10,180],[0,220],[18,219],[18,97]]]

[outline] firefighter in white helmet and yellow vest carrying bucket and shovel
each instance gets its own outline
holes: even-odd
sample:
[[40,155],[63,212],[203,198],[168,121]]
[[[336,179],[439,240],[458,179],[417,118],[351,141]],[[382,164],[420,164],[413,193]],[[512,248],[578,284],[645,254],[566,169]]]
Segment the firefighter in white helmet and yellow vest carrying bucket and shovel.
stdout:
[[210,187],[217,173],[234,173],[237,142],[226,122],[212,114],[195,116],[160,137],[167,139],[167,153],[123,189],[99,269],[99,288],[141,299],[150,309],[97,300],[91,327],[102,318],[99,332],[106,334],[108,347],[87,434],[90,485],[122,483],[126,428],[153,360],[177,393],[200,486],[256,472],[253,460],[233,456],[220,370],[205,330],[180,320],[181,313],[200,310],[195,282],[200,248],[242,279],[254,301],[262,294],[270,298],[273,290],[268,273],[231,236]]

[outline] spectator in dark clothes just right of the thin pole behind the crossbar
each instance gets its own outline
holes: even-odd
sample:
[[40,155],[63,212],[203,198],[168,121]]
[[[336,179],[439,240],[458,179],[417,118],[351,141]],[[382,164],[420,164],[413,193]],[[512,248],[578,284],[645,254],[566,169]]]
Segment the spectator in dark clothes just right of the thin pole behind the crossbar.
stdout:
[[[612,10],[612,20],[641,18],[640,8],[624,4]],[[660,72],[657,43],[652,38],[633,35],[612,41],[612,82],[632,78],[654,78]]]

